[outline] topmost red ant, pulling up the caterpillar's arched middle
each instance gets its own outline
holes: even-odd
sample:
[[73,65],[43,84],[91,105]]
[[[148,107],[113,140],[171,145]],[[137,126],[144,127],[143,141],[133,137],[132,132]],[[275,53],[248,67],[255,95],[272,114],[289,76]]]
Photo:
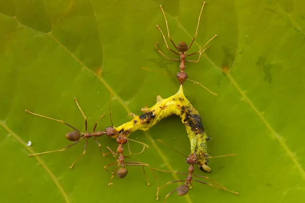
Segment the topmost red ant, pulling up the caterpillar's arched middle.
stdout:
[[[193,43],[194,43],[194,41],[195,41],[195,39],[196,39],[196,37],[197,37],[197,31],[198,31],[198,27],[199,27],[200,17],[201,17],[201,13],[202,13],[202,10],[203,10],[203,7],[204,7],[205,3],[206,3],[206,2],[203,2],[203,4],[202,4],[201,11],[200,11],[200,14],[199,14],[199,17],[198,17],[198,23],[197,23],[197,28],[196,28],[195,36],[194,36],[194,38],[193,38],[193,40],[192,40],[192,42],[191,42],[191,44],[190,44],[189,47],[188,47],[187,43],[185,43],[184,41],[179,42],[177,46],[176,46],[175,43],[172,41],[172,39],[171,39],[170,36],[169,36],[169,29],[168,29],[167,19],[166,19],[166,17],[165,17],[165,13],[164,13],[164,11],[163,11],[163,7],[162,7],[162,5],[159,6],[159,7],[161,8],[162,13],[163,13],[163,16],[164,16],[164,18],[165,18],[165,23],[166,23],[167,33],[168,33],[168,39],[171,41],[171,43],[174,45],[175,49],[176,49],[179,53],[177,53],[176,51],[174,51],[174,50],[172,50],[172,49],[170,49],[170,48],[168,47],[167,42],[166,42],[166,40],[165,40],[165,36],[164,36],[164,34],[163,34],[161,28],[159,27],[159,25],[156,25],[156,27],[160,30],[160,32],[161,32],[161,34],[162,34],[162,36],[163,36],[164,42],[165,42],[165,44],[166,44],[167,49],[170,50],[171,52],[173,52],[173,53],[179,55],[179,56],[180,56],[180,59],[168,58],[167,56],[165,56],[165,54],[163,54],[163,53],[158,49],[158,46],[157,46],[158,42],[156,42],[156,49],[157,49],[158,52],[160,52],[165,58],[167,58],[167,59],[169,59],[169,60],[180,61],[180,65],[179,65],[180,72],[177,73],[177,79],[178,79],[178,81],[179,81],[179,83],[180,83],[181,85],[183,85],[184,82],[185,82],[185,80],[188,78],[188,74],[184,72],[184,70],[186,69],[185,62],[198,62],[199,59],[200,59],[200,57],[201,57],[201,54],[202,54],[206,49],[209,48],[209,47],[206,47],[206,48],[204,48],[204,47],[205,47],[212,39],[214,39],[214,38],[216,38],[216,37],[218,36],[218,35],[215,35],[214,37],[212,37],[207,43],[205,43],[205,45],[204,45],[201,49],[199,49],[199,51],[194,52],[194,53],[192,53],[192,54],[187,54],[187,51],[191,48],[191,46],[193,45]],[[192,56],[192,55],[195,55],[195,54],[197,54],[197,53],[199,53],[198,60],[186,60],[186,57],[187,57],[187,56]]]

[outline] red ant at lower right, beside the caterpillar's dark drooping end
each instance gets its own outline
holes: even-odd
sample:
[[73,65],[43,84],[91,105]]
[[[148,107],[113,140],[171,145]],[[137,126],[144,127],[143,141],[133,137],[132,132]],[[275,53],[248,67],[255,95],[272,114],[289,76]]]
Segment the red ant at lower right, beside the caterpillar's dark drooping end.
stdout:
[[[161,142],[165,145],[167,145],[166,143],[164,143],[163,141],[161,140],[157,140],[158,142]],[[168,146],[168,145],[167,145]],[[168,146],[170,147],[170,146]],[[173,149],[172,147],[170,147],[172,150],[178,152],[177,150]],[[183,156],[186,156],[180,152],[178,152],[179,154],[183,155]],[[224,156],[232,156],[232,155],[236,155],[236,154],[228,154],[228,155],[224,155]],[[183,175],[188,175],[187,179],[186,180],[176,180],[176,181],[170,181],[168,183],[166,183],[165,185],[161,186],[158,191],[157,191],[157,194],[159,193],[159,190],[161,188],[163,188],[164,186],[168,185],[168,184],[171,184],[171,183],[178,183],[178,182],[183,182],[183,181],[186,181],[183,185],[179,185],[176,189],[174,189],[173,191],[171,191],[170,193],[168,193],[164,199],[164,203],[166,202],[166,199],[169,195],[171,195],[174,191],[177,191],[178,195],[179,196],[184,196],[186,195],[189,190],[190,190],[190,186],[192,187],[192,181],[195,181],[195,182],[198,182],[198,183],[203,183],[203,184],[206,184],[206,185],[210,185],[210,186],[213,186],[213,187],[216,187],[216,188],[220,188],[220,189],[223,189],[223,190],[226,190],[226,191],[229,191],[229,192],[232,192],[234,194],[239,194],[238,192],[234,192],[234,191],[231,191],[231,190],[228,190],[227,188],[225,188],[223,185],[211,180],[210,178],[208,177],[205,177],[205,176],[197,176],[197,175],[194,175],[194,164],[197,164],[197,157],[196,156],[196,153],[193,153],[193,154],[190,154],[189,156],[186,156],[187,157],[187,163],[190,164],[189,166],[189,173],[181,173],[181,172],[174,172],[174,171],[164,171],[164,170],[158,170],[156,168],[154,168],[155,171],[160,171],[160,172],[167,172],[167,173],[175,173],[175,174],[183,174]],[[216,158],[216,157],[223,157],[223,156],[215,156],[215,157],[205,157],[205,158]],[[210,180],[211,182],[213,182],[215,185],[213,184],[210,184],[210,183],[206,183],[206,182],[203,182],[203,181],[199,181],[199,180],[194,180],[193,179],[193,176],[194,177],[197,177],[197,178],[205,178],[205,179],[208,179]]]

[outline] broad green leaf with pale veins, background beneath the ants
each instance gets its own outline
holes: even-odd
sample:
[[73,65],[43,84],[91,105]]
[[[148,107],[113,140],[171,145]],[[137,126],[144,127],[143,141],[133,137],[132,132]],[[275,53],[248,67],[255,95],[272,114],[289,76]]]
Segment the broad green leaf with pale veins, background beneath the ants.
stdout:
[[[85,141],[64,152],[36,157],[28,154],[62,149],[71,144],[66,125],[25,113],[24,110],[60,119],[91,131],[105,113],[98,130],[118,126],[151,107],[156,96],[169,97],[178,90],[177,61],[164,58],[167,50],[163,14],[166,12],[175,43],[191,42],[201,1],[0,1],[0,162],[4,202],[155,202],[156,181],[145,168],[128,167],[125,179],[104,166],[115,162],[102,156],[93,139],[86,154]],[[212,95],[187,81],[184,92],[199,111],[208,136],[212,173],[207,176],[238,191],[227,191],[194,182],[185,197],[173,193],[167,202],[303,202],[305,139],[302,136],[305,69],[302,68],[305,21],[300,0],[207,1],[190,53],[212,36],[210,48],[198,63],[187,63],[189,79],[218,93]],[[169,46],[172,44],[167,41]],[[198,55],[197,55],[198,56]],[[196,60],[197,56],[188,57]],[[149,70],[149,71],[147,71]],[[227,71],[229,72],[227,73]],[[168,73],[168,74],[164,74]],[[227,74],[224,74],[227,73]],[[112,92],[112,95],[110,95]],[[147,143],[130,161],[162,170],[188,172],[185,157],[154,142],[161,139],[188,155],[190,144],[177,116],[164,119],[131,139]],[[32,146],[26,146],[28,141]],[[115,140],[99,138],[102,150],[116,150]],[[132,152],[142,146],[130,143]],[[128,155],[128,150],[125,150]],[[116,165],[116,164],[115,164]],[[109,167],[114,170],[115,165]],[[146,167],[146,166],[145,166]],[[160,185],[186,179],[186,175],[155,172]],[[195,178],[194,178],[195,179]],[[198,179],[198,178],[196,178]],[[206,181],[203,179],[202,181]],[[160,201],[176,183],[160,190]]]

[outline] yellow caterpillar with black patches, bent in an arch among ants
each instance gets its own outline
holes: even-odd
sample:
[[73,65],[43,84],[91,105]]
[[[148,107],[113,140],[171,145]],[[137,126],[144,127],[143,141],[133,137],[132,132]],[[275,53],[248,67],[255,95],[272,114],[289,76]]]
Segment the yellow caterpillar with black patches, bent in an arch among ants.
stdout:
[[[180,116],[182,123],[185,124],[188,137],[191,143],[191,154],[198,158],[198,167],[201,171],[210,172],[211,169],[207,166],[208,157],[206,151],[206,141],[208,139],[204,127],[201,123],[201,117],[195,107],[185,97],[182,85],[178,92],[168,98],[161,98],[157,96],[157,103],[151,107],[141,109],[144,112],[142,115],[137,116],[131,114],[133,119],[126,122],[115,129],[118,132],[124,132],[126,137],[131,132],[136,130],[147,130],[157,124],[163,118],[171,115]],[[116,138],[115,136],[113,138]]]

